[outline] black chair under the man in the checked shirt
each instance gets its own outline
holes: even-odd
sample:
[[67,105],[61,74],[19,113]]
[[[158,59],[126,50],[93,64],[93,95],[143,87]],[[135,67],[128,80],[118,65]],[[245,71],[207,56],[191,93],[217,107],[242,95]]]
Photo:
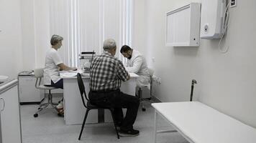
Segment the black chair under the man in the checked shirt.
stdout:
[[[112,115],[112,119],[113,119],[113,122],[114,122],[114,128],[116,129],[116,122],[114,120],[114,108],[110,108],[110,107],[98,107],[96,105],[93,105],[91,104],[90,100],[88,99],[88,97],[86,96],[86,90],[85,90],[85,87],[84,87],[84,84],[83,84],[83,79],[81,78],[81,74],[77,74],[77,79],[78,79],[78,87],[79,87],[79,90],[80,90],[80,94],[81,94],[81,98],[82,98],[82,102],[83,102],[83,106],[86,107],[86,114],[85,114],[85,117],[83,119],[83,124],[82,124],[82,128],[81,128],[81,132],[79,134],[79,138],[78,140],[81,139],[81,135],[83,133],[83,127],[84,125],[86,124],[86,118],[88,116],[88,112],[91,110],[91,109],[109,109],[109,111],[111,112],[111,115]],[[84,96],[86,97],[86,100],[87,100],[87,104],[86,102],[84,101],[84,97],[83,97],[83,94]],[[117,135],[117,138],[119,139],[119,134],[118,134],[118,131],[116,129],[116,135]]]

